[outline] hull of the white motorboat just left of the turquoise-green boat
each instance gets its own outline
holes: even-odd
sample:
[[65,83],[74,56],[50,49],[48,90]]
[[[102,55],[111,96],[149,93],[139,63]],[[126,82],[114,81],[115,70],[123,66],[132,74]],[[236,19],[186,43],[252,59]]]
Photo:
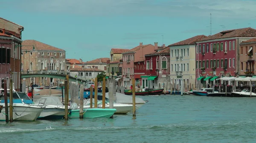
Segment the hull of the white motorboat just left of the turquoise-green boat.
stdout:
[[[70,112],[71,109],[68,109],[68,112]],[[39,120],[56,120],[56,119],[62,119],[65,116],[65,107],[46,107],[39,117],[37,119]]]

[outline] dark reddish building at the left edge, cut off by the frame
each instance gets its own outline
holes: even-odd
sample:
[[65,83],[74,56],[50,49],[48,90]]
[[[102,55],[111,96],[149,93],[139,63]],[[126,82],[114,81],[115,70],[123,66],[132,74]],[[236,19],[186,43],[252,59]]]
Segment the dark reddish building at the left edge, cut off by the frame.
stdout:
[[20,91],[21,87],[21,33],[23,26],[9,20],[0,18],[0,88],[3,88],[3,80],[7,82],[13,79],[13,89]]

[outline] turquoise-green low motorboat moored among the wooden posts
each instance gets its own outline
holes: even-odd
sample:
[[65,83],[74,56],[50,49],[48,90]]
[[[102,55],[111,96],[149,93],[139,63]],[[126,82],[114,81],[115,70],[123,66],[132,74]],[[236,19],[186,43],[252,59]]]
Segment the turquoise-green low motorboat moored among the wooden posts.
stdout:
[[[70,118],[79,118],[80,109],[71,110],[69,113]],[[110,118],[116,109],[102,109],[102,108],[84,108],[84,118]]]

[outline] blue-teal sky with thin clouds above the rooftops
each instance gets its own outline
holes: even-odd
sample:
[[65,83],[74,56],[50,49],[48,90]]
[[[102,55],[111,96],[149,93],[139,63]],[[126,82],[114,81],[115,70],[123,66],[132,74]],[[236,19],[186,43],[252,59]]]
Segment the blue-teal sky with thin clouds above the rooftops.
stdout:
[[1,0],[0,17],[25,28],[22,40],[64,49],[67,59],[86,62],[110,57],[111,48],[208,36],[210,14],[212,35],[256,28],[255,6],[256,0]]

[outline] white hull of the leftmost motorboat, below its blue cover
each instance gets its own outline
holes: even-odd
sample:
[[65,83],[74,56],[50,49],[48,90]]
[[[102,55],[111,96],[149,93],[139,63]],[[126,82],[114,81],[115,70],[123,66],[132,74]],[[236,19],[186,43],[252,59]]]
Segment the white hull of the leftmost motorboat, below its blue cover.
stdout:
[[[26,105],[26,104],[25,104]],[[14,121],[35,121],[41,112],[44,110],[43,107],[34,107],[34,106],[19,106],[13,104],[13,120]],[[10,108],[8,107],[8,115],[10,113]],[[6,120],[5,107],[3,107],[2,112],[0,113],[0,121]]]

